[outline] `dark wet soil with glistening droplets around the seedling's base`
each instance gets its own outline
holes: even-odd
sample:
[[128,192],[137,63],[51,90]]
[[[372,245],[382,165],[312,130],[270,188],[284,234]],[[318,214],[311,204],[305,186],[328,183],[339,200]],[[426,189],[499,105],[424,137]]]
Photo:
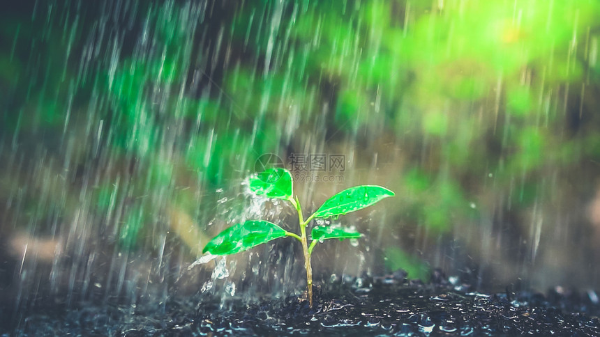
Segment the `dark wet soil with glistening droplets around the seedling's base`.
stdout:
[[89,304],[32,313],[3,336],[600,336],[595,292],[486,295],[468,288],[396,274],[334,280],[313,308],[298,297],[225,306],[191,297],[136,308]]

